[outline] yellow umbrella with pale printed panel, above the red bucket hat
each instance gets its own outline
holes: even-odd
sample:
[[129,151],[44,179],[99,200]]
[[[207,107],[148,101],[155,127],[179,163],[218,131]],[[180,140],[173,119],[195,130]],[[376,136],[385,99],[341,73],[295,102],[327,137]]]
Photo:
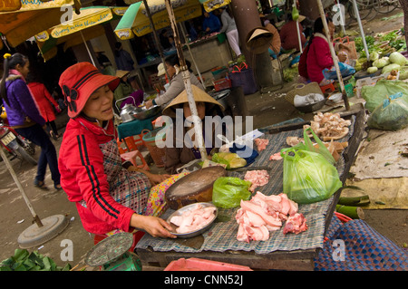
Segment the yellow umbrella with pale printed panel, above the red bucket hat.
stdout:
[[92,63],[95,65],[86,41],[104,34],[105,32],[101,24],[106,24],[113,19],[121,17],[127,8],[109,6],[84,7],[80,9],[80,14],[73,15],[71,21],[55,25],[40,34],[36,34],[35,39],[41,53],[43,53],[44,60],[53,56],[53,52],[56,49],[55,46],[59,43],[64,43],[64,50],[84,43]]

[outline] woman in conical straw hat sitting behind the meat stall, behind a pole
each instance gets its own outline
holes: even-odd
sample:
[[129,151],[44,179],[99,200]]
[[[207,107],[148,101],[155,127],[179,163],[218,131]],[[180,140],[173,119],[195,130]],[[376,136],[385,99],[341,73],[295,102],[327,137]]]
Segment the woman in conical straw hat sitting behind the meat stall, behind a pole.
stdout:
[[[193,91],[194,100],[196,101],[197,106],[197,113],[199,115],[199,119],[202,121],[202,130],[203,130],[203,138],[205,141],[206,151],[209,156],[209,153],[214,148],[219,148],[216,146],[216,135],[218,133],[225,134],[221,123],[214,121],[215,123],[205,123],[204,118],[206,116],[213,116],[213,111],[217,111],[220,109],[224,111],[224,107],[219,103],[219,101],[214,100],[209,94],[200,90],[199,88],[195,87],[194,85],[191,86]],[[182,111],[176,111],[177,109],[182,109]],[[164,109],[163,114],[170,116],[171,118],[183,117],[183,124],[182,128],[180,127],[173,127],[172,137],[173,142],[172,146],[166,147],[166,160],[165,160],[165,169],[168,173],[174,174],[177,172],[177,169],[180,167],[188,164],[191,160],[194,159],[201,159],[201,153],[199,148],[195,145],[195,130],[194,130],[194,123],[192,122],[191,111],[189,109],[189,100],[187,97],[187,92],[182,92],[176,99],[170,102],[170,104]],[[180,113],[180,114],[179,114]],[[185,125],[189,125],[189,127],[185,127]],[[206,126],[211,126],[211,129],[206,130]],[[177,134],[176,130],[182,130],[182,133]],[[177,136],[182,138],[182,140],[178,139]],[[220,140],[219,140],[220,141]],[[182,144],[181,146],[178,144]],[[209,156],[210,159],[210,156]]]

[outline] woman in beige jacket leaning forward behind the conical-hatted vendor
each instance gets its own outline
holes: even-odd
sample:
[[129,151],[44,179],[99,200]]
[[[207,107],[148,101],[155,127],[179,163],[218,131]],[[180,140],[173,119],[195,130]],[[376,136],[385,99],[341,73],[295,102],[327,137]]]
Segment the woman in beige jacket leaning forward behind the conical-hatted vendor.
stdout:
[[[177,54],[173,54],[166,59],[165,63],[167,72],[170,76],[170,86],[167,89],[167,92],[156,97],[154,100],[146,101],[146,108],[150,109],[153,105],[160,105],[161,109],[164,109],[170,101],[172,101],[175,97],[177,97],[181,92],[184,91],[184,82],[183,82],[183,75],[180,73],[180,60]],[[188,69],[191,66],[189,61],[186,61]],[[189,80],[191,84],[196,85],[201,90],[204,90],[201,82],[197,79],[197,77],[190,71],[189,69]]]

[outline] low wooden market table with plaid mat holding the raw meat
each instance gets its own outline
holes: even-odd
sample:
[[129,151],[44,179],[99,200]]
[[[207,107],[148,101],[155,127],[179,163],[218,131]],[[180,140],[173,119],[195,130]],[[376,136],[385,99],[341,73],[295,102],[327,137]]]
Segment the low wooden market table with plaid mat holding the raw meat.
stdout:
[[[364,111],[345,112],[350,120],[348,135],[342,140],[348,146],[337,160],[335,168],[344,183],[348,170],[355,159],[355,152],[364,132]],[[248,167],[228,170],[228,176],[244,178],[247,171],[266,169],[267,184],[257,188],[265,195],[278,195],[283,188],[283,160],[269,158],[287,148],[287,137],[303,137],[303,126],[308,122],[289,124],[269,130],[262,139],[269,141],[266,149],[258,151],[257,159]],[[251,269],[313,270],[313,261],[324,245],[325,232],[335,210],[341,188],[332,197],[323,201],[299,205],[298,212],[306,218],[306,231],[299,234],[283,234],[283,226],[270,232],[265,241],[242,242],[238,240],[238,207],[218,208],[218,219],[202,235],[187,239],[157,239],[145,235],[137,244],[135,252],[143,265],[165,267],[179,258],[197,257],[235,265],[246,265]],[[174,211],[168,209],[162,218]]]

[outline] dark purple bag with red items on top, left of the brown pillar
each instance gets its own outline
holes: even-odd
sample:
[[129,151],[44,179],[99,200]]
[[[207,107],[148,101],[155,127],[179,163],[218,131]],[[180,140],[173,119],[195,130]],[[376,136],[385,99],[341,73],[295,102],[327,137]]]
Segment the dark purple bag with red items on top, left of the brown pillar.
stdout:
[[257,92],[257,82],[255,82],[254,72],[247,63],[235,65],[232,71],[228,73],[232,87],[242,86],[244,94],[252,94]]

